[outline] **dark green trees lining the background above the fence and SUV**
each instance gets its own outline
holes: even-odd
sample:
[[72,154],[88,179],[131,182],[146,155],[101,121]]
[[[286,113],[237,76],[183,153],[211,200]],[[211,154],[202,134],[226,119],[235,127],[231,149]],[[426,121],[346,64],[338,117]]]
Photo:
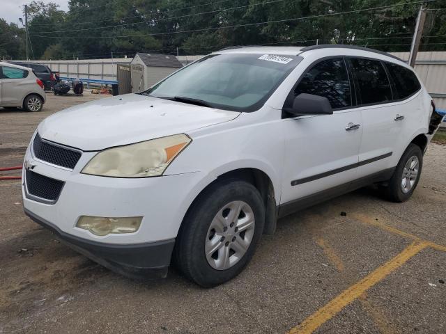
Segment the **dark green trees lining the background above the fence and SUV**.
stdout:
[[[408,51],[420,3],[403,5],[407,2],[412,1],[69,0],[64,13],[55,3],[33,1],[29,32],[35,58],[108,58],[112,51],[114,56],[176,54],[177,48],[180,54],[207,54],[231,45],[314,45],[316,40]],[[392,4],[401,6],[383,8]],[[446,8],[446,0],[427,5]],[[374,7],[380,8],[352,12]],[[429,11],[424,35],[446,35],[445,19],[446,10]],[[22,29],[15,29],[19,36]],[[15,41],[24,44],[19,37]],[[13,54],[10,43],[6,52],[0,42],[0,56]],[[445,46],[445,36],[425,37],[421,51]]]

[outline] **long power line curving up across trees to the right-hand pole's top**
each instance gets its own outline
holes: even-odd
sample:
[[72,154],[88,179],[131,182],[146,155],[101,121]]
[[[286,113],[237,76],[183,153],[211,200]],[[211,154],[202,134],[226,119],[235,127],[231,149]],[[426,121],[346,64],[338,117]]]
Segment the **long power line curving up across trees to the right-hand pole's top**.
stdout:
[[[435,1],[435,0],[426,0],[426,1]],[[340,13],[327,13],[327,14],[321,14],[321,15],[310,15],[307,17],[294,17],[291,19],[276,19],[272,21],[266,21],[266,22],[256,22],[256,23],[248,23],[248,24],[233,24],[231,26],[219,26],[214,28],[205,28],[205,29],[191,29],[186,31],[168,31],[163,33],[145,33],[145,34],[137,34],[137,35],[118,35],[118,36],[89,36],[89,37],[66,37],[66,36],[47,36],[47,35],[32,35],[33,37],[44,37],[44,38],[61,38],[61,39],[102,39],[102,38],[129,38],[129,37],[141,37],[141,36],[155,36],[155,35],[172,35],[177,33],[195,33],[199,31],[214,31],[219,29],[231,29],[231,28],[240,28],[242,26],[256,26],[261,24],[271,24],[271,23],[282,23],[282,22],[293,22],[293,21],[300,21],[302,19],[315,19],[318,17],[328,17],[328,16],[337,16],[337,15],[344,15],[344,14],[351,14],[351,13],[360,13],[364,11],[369,10],[376,10],[376,9],[385,9],[385,8],[393,8],[397,6],[407,6],[412,5],[415,3],[423,3],[426,1],[414,1],[414,2],[406,2],[406,3],[396,3],[393,5],[388,6],[378,6],[378,7],[372,7],[372,8],[364,8],[364,9],[357,9],[357,10],[348,10],[345,12]]]

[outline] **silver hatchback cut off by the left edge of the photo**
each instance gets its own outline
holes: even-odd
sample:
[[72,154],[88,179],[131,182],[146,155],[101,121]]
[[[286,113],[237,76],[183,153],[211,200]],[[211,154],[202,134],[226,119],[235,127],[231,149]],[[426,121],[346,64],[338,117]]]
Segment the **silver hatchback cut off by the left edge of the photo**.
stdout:
[[31,68],[0,62],[0,106],[40,111],[45,100],[43,82]]

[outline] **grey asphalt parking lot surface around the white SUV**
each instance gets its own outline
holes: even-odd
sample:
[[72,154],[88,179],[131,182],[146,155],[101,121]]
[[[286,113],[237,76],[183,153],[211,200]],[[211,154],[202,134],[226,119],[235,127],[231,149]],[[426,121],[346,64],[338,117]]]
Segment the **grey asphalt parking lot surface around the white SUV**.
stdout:
[[[45,116],[101,97],[0,109],[0,167],[22,163]],[[446,245],[445,166],[446,146],[431,143],[408,202],[369,187],[282,218],[247,269],[213,289],[174,270],[135,282],[100,267],[24,215],[20,181],[0,181],[0,333],[446,333],[446,248],[392,260],[414,239]]]

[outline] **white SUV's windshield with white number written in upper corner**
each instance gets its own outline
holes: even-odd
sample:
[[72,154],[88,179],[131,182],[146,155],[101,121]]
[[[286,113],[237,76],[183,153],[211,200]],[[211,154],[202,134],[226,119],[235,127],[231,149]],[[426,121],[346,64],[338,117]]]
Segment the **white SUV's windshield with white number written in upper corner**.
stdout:
[[272,54],[213,54],[142,94],[232,111],[255,111],[302,60]]

